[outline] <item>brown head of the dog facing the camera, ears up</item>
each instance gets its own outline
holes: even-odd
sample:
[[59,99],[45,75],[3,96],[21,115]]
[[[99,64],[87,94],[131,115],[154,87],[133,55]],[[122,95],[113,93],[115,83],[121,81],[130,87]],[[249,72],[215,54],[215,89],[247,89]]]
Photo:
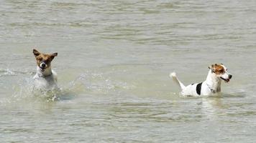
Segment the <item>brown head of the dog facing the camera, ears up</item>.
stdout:
[[36,49],[33,49],[33,54],[35,55],[35,59],[37,60],[37,66],[40,67],[41,71],[45,71],[45,69],[50,67],[50,63],[58,53],[53,54],[42,54]]

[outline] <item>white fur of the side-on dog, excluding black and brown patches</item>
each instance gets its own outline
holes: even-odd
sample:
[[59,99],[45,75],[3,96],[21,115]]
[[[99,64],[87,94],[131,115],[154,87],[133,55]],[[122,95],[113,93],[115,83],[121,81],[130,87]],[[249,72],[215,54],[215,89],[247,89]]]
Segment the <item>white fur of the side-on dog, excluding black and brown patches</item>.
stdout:
[[181,94],[183,96],[193,96],[193,97],[198,97],[198,96],[208,96],[211,94],[215,94],[218,92],[221,92],[221,81],[222,78],[224,79],[229,79],[229,73],[227,72],[226,67],[224,66],[225,69],[225,74],[222,74],[221,76],[217,76],[214,72],[211,71],[211,69],[208,72],[208,75],[206,77],[206,81],[202,82],[201,84],[201,94],[196,93],[196,84],[189,84],[188,86],[184,86],[182,82],[176,77],[175,72],[170,74],[170,77],[173,78],[173,80],[179,84],[181,88]]

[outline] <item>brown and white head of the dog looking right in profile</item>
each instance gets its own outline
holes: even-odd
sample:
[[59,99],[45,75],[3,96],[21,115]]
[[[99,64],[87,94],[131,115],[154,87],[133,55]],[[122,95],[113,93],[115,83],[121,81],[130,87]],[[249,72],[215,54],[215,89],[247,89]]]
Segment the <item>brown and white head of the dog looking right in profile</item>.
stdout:
[[211,69],[212,73],[216,74],[216,77],[219,77],[225,82],[229,82],[229,80],[232,78],[232,75],[229,74],[227,68],[223,64],[211,64],[209,69]]

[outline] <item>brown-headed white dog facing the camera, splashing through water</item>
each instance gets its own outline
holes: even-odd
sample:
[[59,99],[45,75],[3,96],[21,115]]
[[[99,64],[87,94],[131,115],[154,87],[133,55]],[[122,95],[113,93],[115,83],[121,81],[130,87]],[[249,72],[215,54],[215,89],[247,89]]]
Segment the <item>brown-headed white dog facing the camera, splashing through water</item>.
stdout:
[[37,61],[37,73],[35,74],[35,87],[37,89],[56,89],[57,85],[57,74],[52,70],[51,61],[58,55],[53,54],[42,54],[36,49],[33,49],[33,54]]

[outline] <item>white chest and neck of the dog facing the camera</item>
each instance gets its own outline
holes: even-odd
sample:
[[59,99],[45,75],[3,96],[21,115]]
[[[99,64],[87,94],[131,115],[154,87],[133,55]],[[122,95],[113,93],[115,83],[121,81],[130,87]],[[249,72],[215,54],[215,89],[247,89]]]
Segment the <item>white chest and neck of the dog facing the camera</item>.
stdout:
[[36,89],[57,89],[57,74],[55,71],[51,69],[49,66],[45,71],[41,71],[40,67],[37,66],[37,74],[35,74],[35,88]]

